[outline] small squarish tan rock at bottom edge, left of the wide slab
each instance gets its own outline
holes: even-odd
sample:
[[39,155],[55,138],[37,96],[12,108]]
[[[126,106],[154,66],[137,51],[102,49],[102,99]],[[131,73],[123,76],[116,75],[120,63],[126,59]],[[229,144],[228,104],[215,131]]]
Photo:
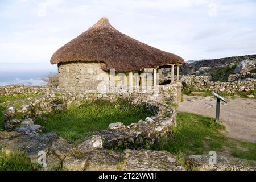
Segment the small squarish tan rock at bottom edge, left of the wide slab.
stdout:
[[84,171],[86,165],[88,165],[88,162],[85,156],[67,156],[63,161],[62,168],[64,171]]

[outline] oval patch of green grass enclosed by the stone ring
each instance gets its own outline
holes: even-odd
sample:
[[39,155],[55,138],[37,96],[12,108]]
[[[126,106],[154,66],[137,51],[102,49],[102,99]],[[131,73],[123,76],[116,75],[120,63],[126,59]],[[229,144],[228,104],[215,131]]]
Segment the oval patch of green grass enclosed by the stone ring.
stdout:
[[69,142],[74,142],[92,135],[94,131],[106,129],[110,123],[129,125],[150,115],[152,113],[144,106],[133,105],[125,100],[112,103],[96,100],[72,106],[65,112],[43,114],[35,118],[35,123],[46,127],[47,132],[56,131]]

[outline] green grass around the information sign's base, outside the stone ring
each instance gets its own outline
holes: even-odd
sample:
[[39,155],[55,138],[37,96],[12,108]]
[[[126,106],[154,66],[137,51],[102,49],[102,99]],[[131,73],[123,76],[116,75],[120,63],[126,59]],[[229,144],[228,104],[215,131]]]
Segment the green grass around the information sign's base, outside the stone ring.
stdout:
[[[225,152],[241,159],[256,160],[256,144],[227,138],[220,131],[225,127],[213,118],[192,113],[177,113],[177,126],[171,137],[165,137],[155,150],[167,150],[172,154],[208,154],[209,151]],[[246,150],[243,150],[246,149]]]

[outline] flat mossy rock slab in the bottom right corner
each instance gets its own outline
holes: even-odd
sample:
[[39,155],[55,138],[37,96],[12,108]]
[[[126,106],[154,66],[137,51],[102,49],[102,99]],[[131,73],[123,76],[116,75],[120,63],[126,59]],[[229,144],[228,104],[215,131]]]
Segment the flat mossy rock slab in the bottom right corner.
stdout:
[[209,164],[209,155],[192,155],[189,160],[192,166],[199,167],[202,171],[255,171],[256,162],[253,160],[226,158],[217,155],[216,164]]

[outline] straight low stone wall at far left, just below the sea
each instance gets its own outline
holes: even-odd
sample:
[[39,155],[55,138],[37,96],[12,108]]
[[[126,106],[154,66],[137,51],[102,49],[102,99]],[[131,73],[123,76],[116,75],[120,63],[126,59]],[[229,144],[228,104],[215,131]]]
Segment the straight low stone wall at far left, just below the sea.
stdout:
[[1,95],[37,94],[39,92],[49,92],[49,88],[44,86],[7,85],[0,86]]

